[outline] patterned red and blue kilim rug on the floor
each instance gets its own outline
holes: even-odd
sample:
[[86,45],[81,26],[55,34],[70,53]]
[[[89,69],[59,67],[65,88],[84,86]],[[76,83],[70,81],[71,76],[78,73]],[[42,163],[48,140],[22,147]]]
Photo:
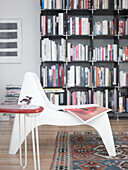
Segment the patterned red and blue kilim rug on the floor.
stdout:
[[114,132],[116,157],[110,157],[96,132],[59,132],[51,170],[126,170],[128,132]]

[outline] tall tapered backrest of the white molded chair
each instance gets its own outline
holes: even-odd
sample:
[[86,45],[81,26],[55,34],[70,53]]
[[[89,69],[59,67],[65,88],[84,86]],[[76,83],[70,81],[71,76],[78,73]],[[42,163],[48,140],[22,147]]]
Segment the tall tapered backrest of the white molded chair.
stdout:
[[25,74],[19,97],[19,103],[20,100],[26,96],[32,97],[31,104],[33,105],[41,105],[44,108],[47,107],[57,110],[56,105],[52,104],[47,98],[36,73],[27,72]]

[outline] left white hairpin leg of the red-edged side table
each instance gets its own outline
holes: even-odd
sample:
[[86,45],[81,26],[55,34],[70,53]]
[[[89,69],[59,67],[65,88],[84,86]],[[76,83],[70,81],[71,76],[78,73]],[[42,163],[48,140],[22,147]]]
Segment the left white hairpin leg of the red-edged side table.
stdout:
[[[24,136],[26,136],[26,117],[24,115]],[[20,144],[20,165],[23,169],[27,166],[27,137],[25,137],[25,165],[22,162],[22,145],[21,145],[21,123],[19,115],[19,144]]]

